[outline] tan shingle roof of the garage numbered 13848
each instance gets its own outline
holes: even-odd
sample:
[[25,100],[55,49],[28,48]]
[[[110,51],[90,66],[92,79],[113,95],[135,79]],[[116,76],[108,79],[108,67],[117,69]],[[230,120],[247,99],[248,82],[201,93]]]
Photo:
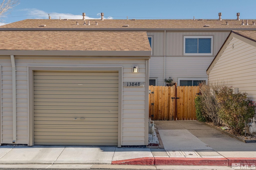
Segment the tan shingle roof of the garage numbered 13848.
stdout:
[[151,51],[143,31],[0,31],[0,50]]

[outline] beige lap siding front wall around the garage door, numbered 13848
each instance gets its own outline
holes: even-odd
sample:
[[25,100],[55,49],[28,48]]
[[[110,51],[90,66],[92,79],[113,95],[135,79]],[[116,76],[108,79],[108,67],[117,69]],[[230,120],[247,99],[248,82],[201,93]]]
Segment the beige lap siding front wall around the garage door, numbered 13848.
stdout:
[[[2,65],[3,143],[12,143],[12,66],[10,57]],[[123,66],[123,82],[145,82],[144,59],[83,59],[15,56],[17,88],[17,143],[28,143],[27,66],[114,67]],[[131,64],[129,64],[131,63]],[[139,73],[131,73],[132,65]],[[134,96],[136,99],[134,100]],[[145,145],[145,87],[123,87],[122,145]]]

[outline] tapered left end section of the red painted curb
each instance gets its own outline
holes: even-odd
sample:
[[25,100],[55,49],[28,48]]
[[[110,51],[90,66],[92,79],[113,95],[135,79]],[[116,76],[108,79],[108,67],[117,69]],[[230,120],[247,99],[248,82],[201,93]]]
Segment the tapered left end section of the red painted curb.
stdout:
[[112,161],[112,165],[154,165],[155,158],[135,158],[135,159],[126,159],[120,161]]

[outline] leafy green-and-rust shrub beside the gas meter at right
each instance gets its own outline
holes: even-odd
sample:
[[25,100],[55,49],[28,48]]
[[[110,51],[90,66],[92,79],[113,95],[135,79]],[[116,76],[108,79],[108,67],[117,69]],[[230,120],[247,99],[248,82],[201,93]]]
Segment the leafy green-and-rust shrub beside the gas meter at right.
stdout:
[[254,102],[247,98],[246,93],[234,94],[230,87],[220,89],[216,97],[220,104],[220,118],[235,135],[242,135],[244,123],[254,115]]

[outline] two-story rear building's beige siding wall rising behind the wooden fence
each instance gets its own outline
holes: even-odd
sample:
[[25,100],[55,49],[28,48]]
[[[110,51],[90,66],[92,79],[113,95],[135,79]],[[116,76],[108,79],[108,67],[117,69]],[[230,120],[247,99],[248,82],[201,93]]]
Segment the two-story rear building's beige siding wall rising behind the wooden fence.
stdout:
[[[164,77],[164,32],[147,32],[152,36],[150,78],[158,78],[157,85],[165,85],[164,79],[207,79],[206,69],[225,42],[230,31],[166,31],[166,76]],[[210,56],[184,56],[184,36],[212,36],[213,50]]]

